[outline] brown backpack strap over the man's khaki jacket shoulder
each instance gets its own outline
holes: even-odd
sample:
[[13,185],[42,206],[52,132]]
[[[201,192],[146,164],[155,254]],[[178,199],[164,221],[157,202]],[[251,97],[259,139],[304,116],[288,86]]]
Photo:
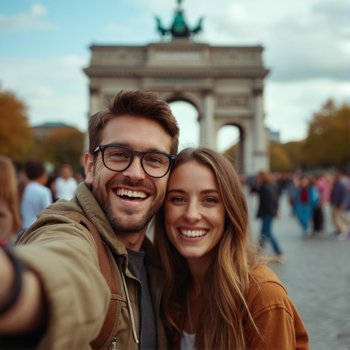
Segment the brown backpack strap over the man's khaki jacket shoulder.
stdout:
[[[48,213],[48,211],[46,211]],[[98,252],[98,264],[100,265],[100,271],[103,274],[103,277],[109,284],[109,289],[111,290],[111,301],[109,303],[109,308],[107,311],[107,316],[105,318],[105,322],[100,330],[100,334],[98,334],[97,338],[91,342],[92,349],[103,349],[107,342],[109,341],[109,337],[114,334],[113,327],[116,321],[116,314],[118,308],[118,300],[116,295],[118,294],[118,284],[116,280],[116,275],[114,274],[113,267],[111,265],[111,260],[108,258],[107,250],[109,249],[107,245],[103,242],[100,235],[98,234],[95,226],[92,222],[87,219],[84,215],[79,214],[77,212],[68,212],[68,211],[50,211],[50,214],[58,214],[68,217],[77,223],[83,225],[87,230],[90,231],[92,237],[97,246]]]

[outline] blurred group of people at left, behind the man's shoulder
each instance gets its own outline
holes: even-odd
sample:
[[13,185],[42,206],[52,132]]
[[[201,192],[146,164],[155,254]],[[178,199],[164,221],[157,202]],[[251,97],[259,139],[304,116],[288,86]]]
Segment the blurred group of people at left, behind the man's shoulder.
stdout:
[[10,157],[0,155],[0,244],[15,244],[40,211],[75,197],[83,180],[70,164],[50,173],[44,162],[29,159],[16,170]]

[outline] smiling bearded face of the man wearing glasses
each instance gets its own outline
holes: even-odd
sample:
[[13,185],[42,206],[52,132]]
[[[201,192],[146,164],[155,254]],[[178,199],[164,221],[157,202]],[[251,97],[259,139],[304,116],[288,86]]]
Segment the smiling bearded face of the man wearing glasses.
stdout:
[[[170,153],[171,142],[170,135],[154,120],[124,115],[105,124],[100,145]],[[136,155],[126,170],[113,172],[103,165],[100,151],[95,165],[92,154],[85,156],[85,173],[85,182],[92,185],[92,193],[116,234],[146,231],[148,222],[163,204],[169,174],[163,178],[148,176]]]

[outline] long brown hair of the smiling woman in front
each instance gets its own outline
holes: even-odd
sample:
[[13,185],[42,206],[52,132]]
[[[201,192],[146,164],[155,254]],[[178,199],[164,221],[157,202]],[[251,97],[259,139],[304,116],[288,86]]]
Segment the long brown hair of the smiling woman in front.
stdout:
[[[206,271],[204,306],[196,332],[196,347],[202,349],[246,349],[245,322],[254,321],[246,297],[251,271],[258,265],[258,248],[250,232],[247,203],[234,167],[223,154],[211,148],[186,148],[172,171],[180,164],[198,161],[215,173],[226,208],[224,235],[213,265]],[[163,208],[154,220],[154,245],[166,271],[163,317],[170,341],[182,334],[180,321],[186,310],[186,293],[191,276],[187,261],[167,239]]]

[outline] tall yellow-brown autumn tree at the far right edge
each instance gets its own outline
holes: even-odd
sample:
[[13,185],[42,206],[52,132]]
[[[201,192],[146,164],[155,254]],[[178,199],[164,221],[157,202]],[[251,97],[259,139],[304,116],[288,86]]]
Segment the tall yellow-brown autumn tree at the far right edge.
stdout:
[[350,105],[336,107],[328,100],[310,122],[301,147],[301,160],[308,169],[347,167],[350,164]]

